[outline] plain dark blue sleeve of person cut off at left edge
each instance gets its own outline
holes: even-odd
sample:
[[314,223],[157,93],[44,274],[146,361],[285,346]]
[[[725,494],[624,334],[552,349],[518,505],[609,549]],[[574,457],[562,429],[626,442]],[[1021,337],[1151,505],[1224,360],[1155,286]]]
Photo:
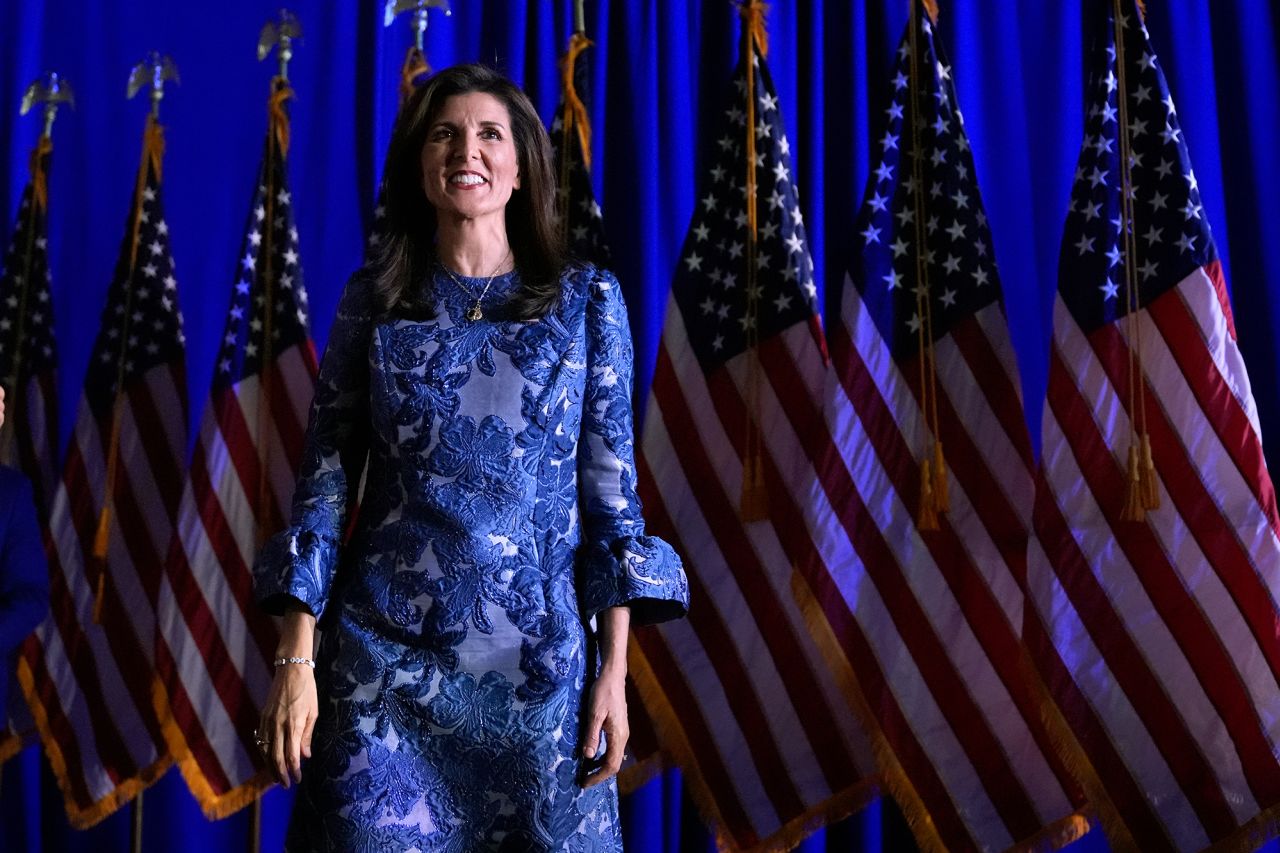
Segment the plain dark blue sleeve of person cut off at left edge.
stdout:
[[31,482],[0,466],[0,653],[4,658],[49,612],[49,566]]

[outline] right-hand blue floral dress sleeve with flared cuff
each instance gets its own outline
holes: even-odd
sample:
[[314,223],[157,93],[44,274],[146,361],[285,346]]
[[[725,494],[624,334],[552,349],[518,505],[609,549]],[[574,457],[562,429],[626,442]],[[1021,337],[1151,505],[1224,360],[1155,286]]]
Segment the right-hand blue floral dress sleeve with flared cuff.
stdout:
[[627,606],[631,622],[682,617],[689,580],[669,544],[645,535],[636,494],[631,386],[635,357],[622,289],[598,273],[586,297],[586,389],[577,446],[579,599],[590,619]]

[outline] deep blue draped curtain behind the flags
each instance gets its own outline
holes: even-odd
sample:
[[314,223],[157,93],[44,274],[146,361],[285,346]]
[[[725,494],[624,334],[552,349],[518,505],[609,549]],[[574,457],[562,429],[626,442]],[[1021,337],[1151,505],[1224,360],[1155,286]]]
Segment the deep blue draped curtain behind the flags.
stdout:
[[[940,28],[973,142],[978,178],[1020,357],[1027,418],[1038,439],[1060,229],[1080,145],[1082,58],[1098,0],[940,0]],[[380,0],[296,0],[305,37],[291,78],[291,170],[315,337],[324,345],[339,288],[361,260],[362,234],[396,111],[404,22],[381,27]],[[556,61],[568,37],[567,0],[453,0],[431,14],[435,67],[481,60],[522,82],[544,117],[557,100]],[[1268,457],[1280,466],[1280,8],[1275,0],[1147,0],[1204,207],[1233,288]],[[73,82],[77,109],[54,133],[50,252],[61,352],[65,444],[137,168],[143,99],[124,100],[129,68],[148,50],[173,56],[180,87],[165,97],[165,204],[188,336],[192,425],[207,392],[236,251],[265,132],[274,60],[259,64],[265,0],[0,0],[0,202],[8,228],[26,182],[38,117],[18,117],[45,70]],[[817,280],[833,316],[844,246],[887,106],[890,54],[908,0],[774,0],[769,65],[786,117]],[[589,104],[595,187],[616,272],[635,325],[646,393],[667,286],[700,181],[703,118],[723,99],[737,54],[728,0],[588,0],[596,46]],[[192,430],[195,434],[195,429]],[[289,798],[266,798],[264,849],[279,849]],[[628,849],[704,849],[668,774],[625,803]],[[892,812],[888,812],[890,815]],[[247,818],[206,824],[174,771],[146,797],[148,849],[238,850]],[[5,849],[127,849],[128,809],[87,833],[67,827],[61,800],[28,749],[6,765],[0,795]],[[805,849],[901,849],[881,811]],[[1091,836],[1085,847],[1101,847]]]

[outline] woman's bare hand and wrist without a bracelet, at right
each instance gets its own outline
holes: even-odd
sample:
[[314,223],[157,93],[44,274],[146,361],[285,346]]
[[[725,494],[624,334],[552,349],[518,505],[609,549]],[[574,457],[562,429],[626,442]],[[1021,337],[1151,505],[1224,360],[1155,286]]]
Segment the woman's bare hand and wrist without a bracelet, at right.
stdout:
[[[586,701],[586,726],[582,738],[582,756],[599,763],[582,780],[584,788],[598,785],[617,775],[626,757],[627,738],[627,637],[631,611],[611,607],[596,615],[600,630],[600,674],[596,676]],[[604,757],[596,758],[600,731],[604,731]]]

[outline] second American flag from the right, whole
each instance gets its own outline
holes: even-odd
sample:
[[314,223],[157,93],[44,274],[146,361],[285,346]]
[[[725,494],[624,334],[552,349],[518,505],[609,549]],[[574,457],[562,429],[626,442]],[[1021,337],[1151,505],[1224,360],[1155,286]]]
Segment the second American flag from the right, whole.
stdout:
[[1088,821],[1020,640],[1030,437],[951,67],[919,5],[891,86],[831,332],[812,521],[850,547],[813,601],[923,847],[1062,843]]

